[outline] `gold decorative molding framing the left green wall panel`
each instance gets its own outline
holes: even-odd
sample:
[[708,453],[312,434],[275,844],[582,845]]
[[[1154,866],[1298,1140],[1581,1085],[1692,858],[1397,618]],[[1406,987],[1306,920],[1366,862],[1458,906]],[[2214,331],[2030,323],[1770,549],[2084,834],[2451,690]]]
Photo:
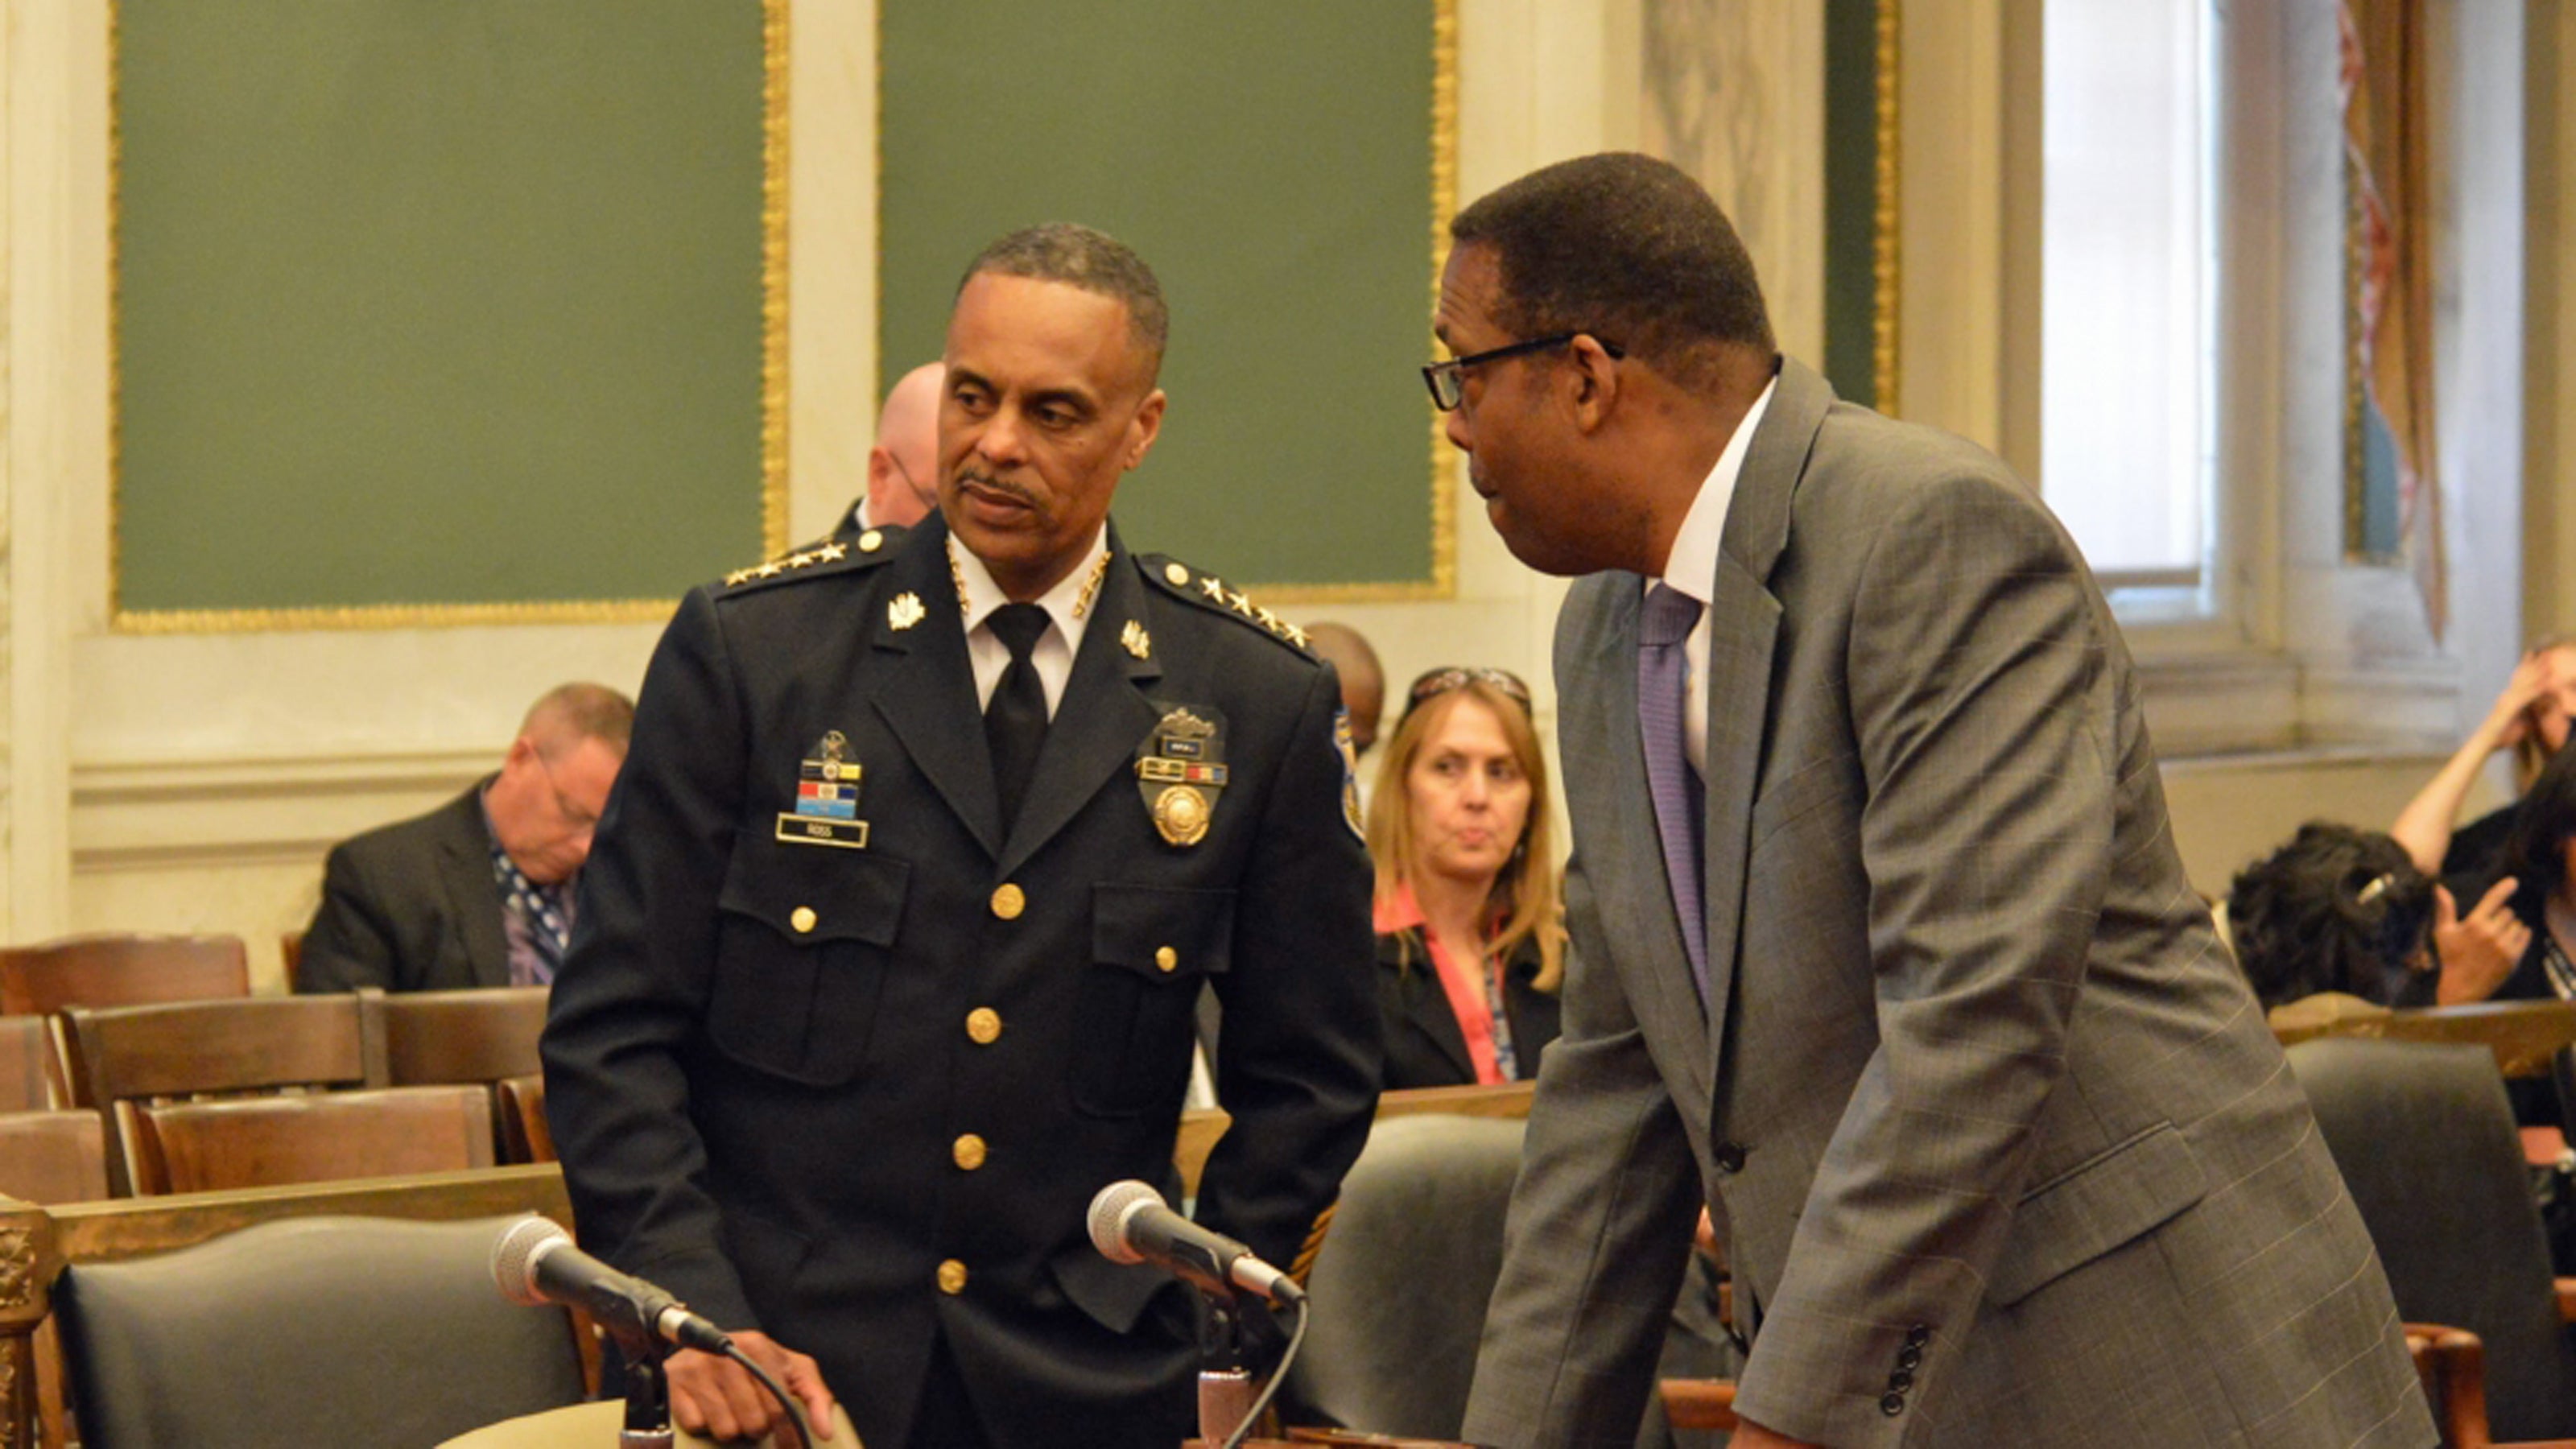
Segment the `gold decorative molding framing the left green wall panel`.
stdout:
[[[1443,0],[1448,3],[1448,0]],[[788,547],[788,5],[760,0],[760,541]],[[268,634],[291,629],[459,629],[477,624],[659,624],[672,598],[523,603],[361,603],[312,608],[126,608],[118,518],[121,369],[116,358],[116,193],[121,175],[118,0],[108,0],[108,627],[118,634]]]

